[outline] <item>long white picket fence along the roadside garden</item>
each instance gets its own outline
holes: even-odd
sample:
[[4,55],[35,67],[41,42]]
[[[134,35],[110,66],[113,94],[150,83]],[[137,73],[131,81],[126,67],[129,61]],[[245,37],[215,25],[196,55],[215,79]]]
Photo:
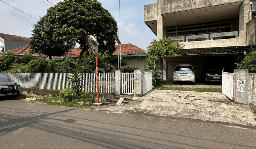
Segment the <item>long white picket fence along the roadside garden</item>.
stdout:
[[[60,90],[70,88],[67,81],[69,73],[4,73],[16,81],[23,88]],[[97,92],[96,73],[81,73],[83,92]],[[100,93],[115,92],[114,73],[99,73],[98,78]]]

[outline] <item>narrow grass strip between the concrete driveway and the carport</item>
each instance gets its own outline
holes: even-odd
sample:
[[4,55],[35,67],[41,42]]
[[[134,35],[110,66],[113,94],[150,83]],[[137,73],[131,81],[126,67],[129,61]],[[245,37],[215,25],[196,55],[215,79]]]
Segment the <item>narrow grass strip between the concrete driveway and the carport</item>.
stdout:
[[194,91],[194,92],[216,92],[221,93],[221,88],[185,88],[185,87],[163,87],[159,85],[156,89],[159,90],[183,90],[183,91]]

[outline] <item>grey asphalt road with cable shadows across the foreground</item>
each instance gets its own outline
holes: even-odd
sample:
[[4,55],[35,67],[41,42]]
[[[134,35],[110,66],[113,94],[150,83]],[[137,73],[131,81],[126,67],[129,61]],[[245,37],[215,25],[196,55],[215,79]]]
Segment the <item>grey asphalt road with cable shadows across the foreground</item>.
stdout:
[[0,149],[254,149],[256,130],[0,99]]

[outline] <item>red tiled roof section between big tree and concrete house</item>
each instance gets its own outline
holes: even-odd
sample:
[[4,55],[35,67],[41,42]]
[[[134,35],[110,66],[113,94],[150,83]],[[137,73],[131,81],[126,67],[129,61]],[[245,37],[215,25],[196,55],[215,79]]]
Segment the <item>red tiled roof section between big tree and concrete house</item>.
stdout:
[[[119,45],[116,45],[116,50],[114,51],[113,55],[118,54]],[[121,54],[144,54],[147,53],[146,50],[143,50],[142,48],[139,48],[138,46],[135,46],[133,44],[121,44]]]

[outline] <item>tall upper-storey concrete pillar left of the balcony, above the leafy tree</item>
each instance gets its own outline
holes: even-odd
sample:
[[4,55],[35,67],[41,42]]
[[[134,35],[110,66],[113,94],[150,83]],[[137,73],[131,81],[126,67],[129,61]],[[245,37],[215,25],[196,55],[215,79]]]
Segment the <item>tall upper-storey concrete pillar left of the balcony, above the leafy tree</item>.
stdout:
[[163,19],[161,15],[162,0],[157,0],[157,40],[163,38]]

